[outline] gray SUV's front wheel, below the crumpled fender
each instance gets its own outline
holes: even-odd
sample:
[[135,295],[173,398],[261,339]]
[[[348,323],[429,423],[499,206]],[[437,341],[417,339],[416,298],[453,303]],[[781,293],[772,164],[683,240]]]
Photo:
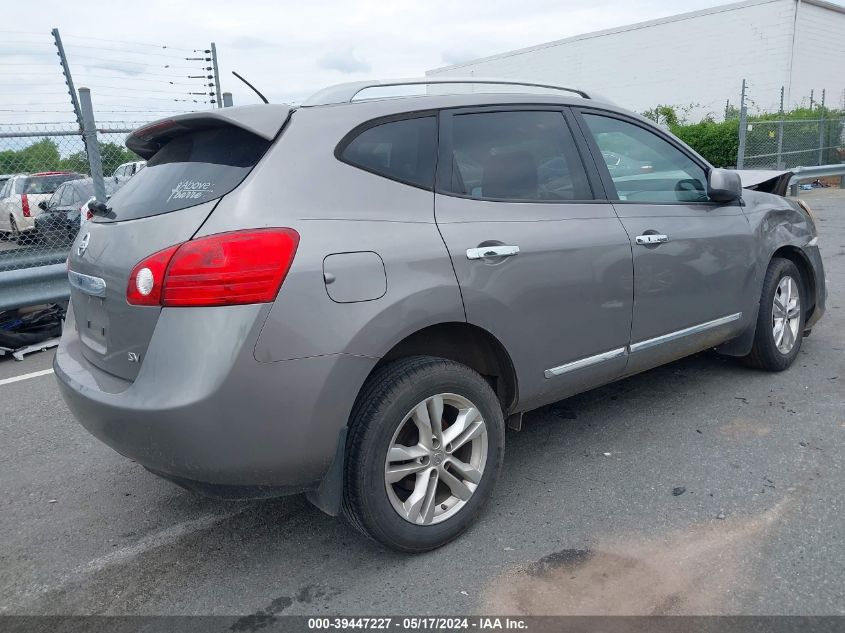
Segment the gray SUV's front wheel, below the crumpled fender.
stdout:
[[[790,279],[794,282],[790,295],[797,294],[797,305],[794,305],[793,298],[787,299],[789,314],[793,316],[786,319],[784,327],[779,330],[783,332],[783,338],[779,339],[776,331],[779,308],[775,305],[775,299],[786,296],[784,289]],[[805,280],[794,263],[780,257],[775,257],[769,262],[763,279],[754,344],[751,353],[743,358],[746,365],[766,371],[783,371],[792,365],[801,350],[803,339],[807,294],[805,287]],[[778,299],[779,303],[780,301],[781,299]],[[791,345],[788,345],[790,338]]]

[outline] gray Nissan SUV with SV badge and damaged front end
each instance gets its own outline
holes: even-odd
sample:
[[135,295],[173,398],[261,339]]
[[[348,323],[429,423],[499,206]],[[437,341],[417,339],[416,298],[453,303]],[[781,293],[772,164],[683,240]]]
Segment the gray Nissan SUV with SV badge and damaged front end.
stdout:
[[[583,91],[442,83],[133,132],[146,169],[69,258],[82,425],[419,552],[476,520],[525,411],[713,347],[795,360],[826,294],[806,206]],[[362,98],[400,84],[431,86]]]

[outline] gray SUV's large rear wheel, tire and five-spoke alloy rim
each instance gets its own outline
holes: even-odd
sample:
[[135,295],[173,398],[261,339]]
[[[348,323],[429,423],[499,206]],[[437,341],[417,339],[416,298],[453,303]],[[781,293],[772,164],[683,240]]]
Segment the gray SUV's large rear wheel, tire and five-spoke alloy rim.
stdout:
[[[424,420],[435,417],[438,401],[442,432],[433,430],[426,440],[420,428],[430,428]],[[504,447],[502,408],[480,374],[431,356],[393,361],[367,380],[350,416],[344,515],[387,547],[408,553],[438,548],[475,522],[498,479]],[[400,478],[388,482],[388,468]],[[402,469],[409,472],[403,478]]]

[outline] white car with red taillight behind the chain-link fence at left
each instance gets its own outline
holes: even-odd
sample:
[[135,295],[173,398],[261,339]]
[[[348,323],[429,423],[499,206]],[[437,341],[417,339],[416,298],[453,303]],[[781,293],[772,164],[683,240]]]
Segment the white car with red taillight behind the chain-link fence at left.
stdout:
[[41,214],[38,206],[46,202],[63,182],[85,178],[70,171],[47,171],[19,174],[9,178],[0,190],[0,234],[19,244],[29,241],[28,233],[35,227],[35,217]]

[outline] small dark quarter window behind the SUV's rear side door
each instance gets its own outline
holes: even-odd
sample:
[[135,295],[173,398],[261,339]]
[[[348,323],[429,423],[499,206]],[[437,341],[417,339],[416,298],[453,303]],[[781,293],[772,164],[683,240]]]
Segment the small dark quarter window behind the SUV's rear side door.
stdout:
[[431,189],[436,134],[433,116],[390,121],[368,127],[342,144],[340,158],[380,176]]

